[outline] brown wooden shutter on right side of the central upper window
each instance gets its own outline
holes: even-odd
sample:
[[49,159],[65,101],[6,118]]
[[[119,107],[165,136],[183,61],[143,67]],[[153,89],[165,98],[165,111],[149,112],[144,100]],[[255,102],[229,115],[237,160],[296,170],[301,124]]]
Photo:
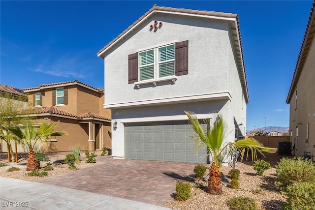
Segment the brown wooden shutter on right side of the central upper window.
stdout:
[[175,44],[175,75],[188,74],[188,40]]

